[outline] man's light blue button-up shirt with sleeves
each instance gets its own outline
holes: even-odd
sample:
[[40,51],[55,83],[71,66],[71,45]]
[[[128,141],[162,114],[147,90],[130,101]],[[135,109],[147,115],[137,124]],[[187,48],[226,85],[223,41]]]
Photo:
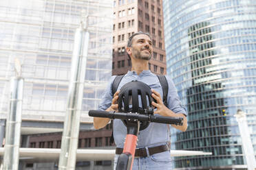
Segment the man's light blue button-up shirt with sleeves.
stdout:
[[[113,99],[112,94],[112,84],[116,76],[112,76],[107,89],[103,95],[103,98],[98,106],[98,110],[106,110],[111,106],[111,101]],[[144,82],[149,85],[150,88],[158,91],[162,97],[162,86],[158,77],[151,73],[151,71],[142,71],[140,75],[137,75],[136,71],[128,71],[128,73],[122,78],[118,90],[132,80],[137,80]],[[177,90],[173,84],[173,81],[167,76],[168,82],[168,95],[167,104],[168,108],[175,113],[182,113],[187,115],[186,110],[182,107],[180,99],[178,97]],[[116,147],[123,147],[125,143],[125,137],[127,135],[127,127],[122,123],[120,119],[114,119],[114,140]],[[145,130],[140,130],[138,135],[138,148],[139,147],[150,147],[152,145],[162,145],[163,143],[168,143],[169,138],[169,125],[163,123],[149,123],[149,126]]]

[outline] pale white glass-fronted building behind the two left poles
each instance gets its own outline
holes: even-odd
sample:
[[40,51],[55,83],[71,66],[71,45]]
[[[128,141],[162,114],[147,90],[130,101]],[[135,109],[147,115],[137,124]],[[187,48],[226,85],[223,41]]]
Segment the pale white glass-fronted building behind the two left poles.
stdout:
[[83,114],[96,108],[111,76],[113,12],[111,0],[0,1],[0,119],[6,118],[14,58],[24,77],[22,118],[63,121],[74,44],[81,11],[89,15]]

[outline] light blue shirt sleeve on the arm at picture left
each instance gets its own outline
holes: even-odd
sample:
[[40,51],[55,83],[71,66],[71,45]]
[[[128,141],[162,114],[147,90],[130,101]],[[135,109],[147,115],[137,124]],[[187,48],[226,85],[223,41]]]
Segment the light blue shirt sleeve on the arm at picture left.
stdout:
[[111,76],[109,83],[107,84],[107,88],[105,89],[105,92],[103,93],[103,97],[101,98],[100,104],[96,108],[96,110],[106,110],[111,106],[111,102],[113,99],[112,94],[112,84],[114,82],[114,79],[116,78],[116,75]]

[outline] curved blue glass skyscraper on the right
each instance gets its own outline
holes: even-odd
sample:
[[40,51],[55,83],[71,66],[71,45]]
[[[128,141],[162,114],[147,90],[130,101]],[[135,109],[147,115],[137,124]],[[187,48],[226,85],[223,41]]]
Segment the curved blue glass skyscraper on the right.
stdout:
[[234,114],[247,114],[256,153],[256,1],[163,1],[167,74],[189,112],[171,149],[211,151],[175,158],[175,168],[246,169]]

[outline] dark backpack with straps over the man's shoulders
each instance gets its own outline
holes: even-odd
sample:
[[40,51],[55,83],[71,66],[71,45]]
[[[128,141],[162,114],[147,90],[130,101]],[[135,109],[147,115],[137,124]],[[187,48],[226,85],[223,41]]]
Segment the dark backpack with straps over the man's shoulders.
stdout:
[[[118,89],[118,86],[122,80],[122,77],[124,77],[125,75],[116,75],[113,84],[112,84],[112,94],[114,95],[116,93],[116,90]],[[158,80],[162,86],[162,101],[164,103],[165,106],[167,106],[167,94],[168,94],[168,82],[167,82],[167,77],[165,77],[164,75],[157,75],[158,76]],[[113,123],[113,122],[111,122]],[[114,136],[113,136],[113,130],[112,130],[112,134],[110,137],[110,144],[114,143]]]

